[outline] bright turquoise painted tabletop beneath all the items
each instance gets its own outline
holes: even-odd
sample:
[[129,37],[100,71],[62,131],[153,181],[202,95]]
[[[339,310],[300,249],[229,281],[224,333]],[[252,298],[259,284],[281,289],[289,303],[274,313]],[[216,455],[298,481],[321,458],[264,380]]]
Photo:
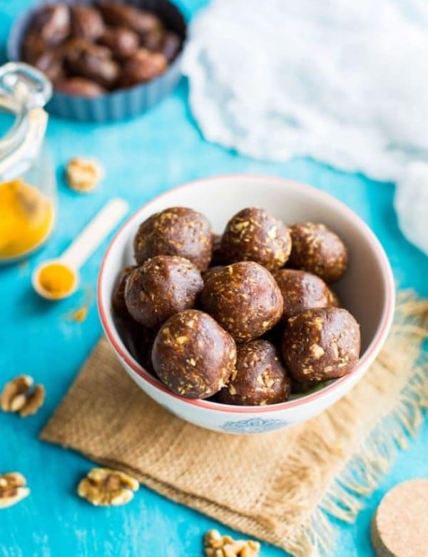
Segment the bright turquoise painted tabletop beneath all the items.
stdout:
[[[0,0],[0,41],[28,0]],[[203,0],[183,2],[193,14]],[[121,124],[93,126],[52,118],[48,141],[58,169],[59,219],[54,236],[36,256],[0,269],[0,384],[18,373],[29,373],[47,389],[46,404],[34,417],[0,414],[0,471],[25,474],[31,496],[0,511],[2,557],[192,557],[201,556],[201,538],[215,521],[141,488],[123,508],[93,508],[76,496],[76,483],[91,463],[78,454],[41,443],[37,434],[49,418],[79,367],[101,335],[95,302],[98,266],[107,241],[84,266],[82,288],[72,298],[47,303],[31,291],[31,271],[54,257],[113,195],[136,209],[153,196],[184,181],[215,174],[255,172],[286,176],[312,184],[344,201],[379,236],[397,282],[428,296],[428,259],[399,233],[392,209],[392,184],[344,174],[314,161],[299,159],[268,164],[238,156],[206,143],[187,103],[183,82],[150,114]],[[79,196],[66,189],[63,164],[76,155],[96,156],[106,168],[101,189]],[[370,277],[362,276],[362,281]],[[83,323],[70,311],[89,307]],[[388,432],[385,431],[385,435]],[[428,426],[400,453],[379,488],[365,500],[355,525],[336,522],[337,556],[372,556],[369,523],[383,493],[398,481],[426,476]],[[263,545],[264,557],[282,551]]]

